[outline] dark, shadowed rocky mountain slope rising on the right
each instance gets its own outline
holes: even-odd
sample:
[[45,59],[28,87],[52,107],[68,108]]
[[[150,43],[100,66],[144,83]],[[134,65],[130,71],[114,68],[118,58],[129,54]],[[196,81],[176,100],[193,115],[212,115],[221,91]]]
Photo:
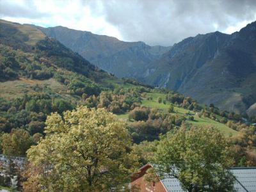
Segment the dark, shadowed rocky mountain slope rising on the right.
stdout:
[[149,84],[244,113],[256,102],[256,22],[232,35],[187,38],[149,66]]

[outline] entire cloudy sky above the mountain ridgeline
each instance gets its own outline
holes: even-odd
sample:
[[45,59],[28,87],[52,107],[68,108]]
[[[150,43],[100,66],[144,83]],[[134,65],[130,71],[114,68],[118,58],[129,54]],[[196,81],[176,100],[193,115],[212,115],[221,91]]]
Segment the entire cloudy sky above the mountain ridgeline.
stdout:
[[168,46],[239,31],[256,20],[256,0],[0,0],[0,18]]

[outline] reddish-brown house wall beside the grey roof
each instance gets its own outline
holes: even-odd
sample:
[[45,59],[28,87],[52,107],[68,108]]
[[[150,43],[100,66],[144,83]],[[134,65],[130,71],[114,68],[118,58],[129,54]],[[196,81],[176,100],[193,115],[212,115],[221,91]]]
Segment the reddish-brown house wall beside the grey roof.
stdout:
[[[131,182],[131,191],[132,192],[138,192],[138,191],[140,191],[140,192],[167,192],[161,181],[156,182],[153,185],[152,183],[149,184],[148,182],[146,182],[143,179],[143,176],[145,175],[148,168],[150,168],[150,167],[151,166],[148,165],[148,166],[142,168],[140,173],[138,173],[138,175],[136,175],[136,177],[134,177],[132,179],[132,182]],[[140,190],[138,190],[138,189],[140,189]]]

